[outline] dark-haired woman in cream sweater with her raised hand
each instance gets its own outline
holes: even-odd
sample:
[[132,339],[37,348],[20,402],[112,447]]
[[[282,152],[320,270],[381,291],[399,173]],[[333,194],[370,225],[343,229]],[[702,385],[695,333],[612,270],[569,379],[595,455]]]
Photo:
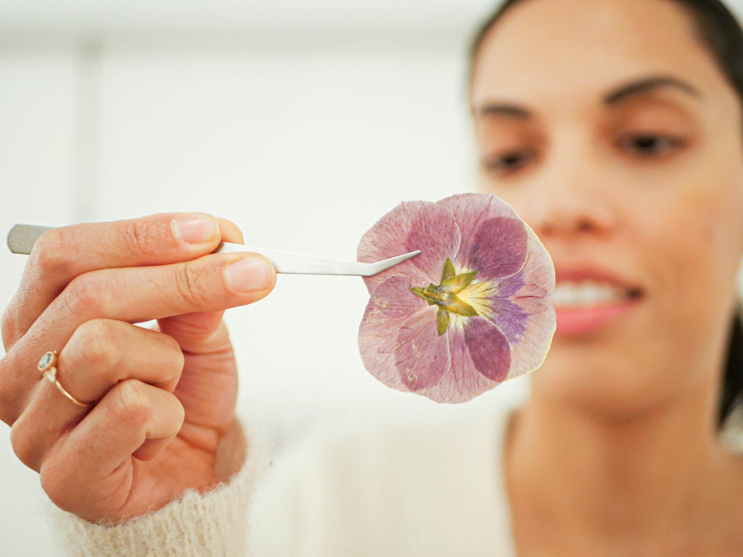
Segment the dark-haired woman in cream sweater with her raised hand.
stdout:
[[[716,0],[512,0],[487,22],[470,99],[481,189],[557,270],[557,336],[531,398],[322,437],[265,482],[251,554],[743,553],[743,462],[718,442],[721,392],[727,415],[743,373],[733,357],[723,381],[743,256],[742,59]],[[221,312],[275,275],[256,255],[207,255],[220,239],[241,236],[155,215],[34,247],[2,322],[1,411],[67,511],[74,554],[242,551],[258,458],[233,418]],[[129,324],[147,319],[160,332]],[[50,350],[92,409],[40,380]]]

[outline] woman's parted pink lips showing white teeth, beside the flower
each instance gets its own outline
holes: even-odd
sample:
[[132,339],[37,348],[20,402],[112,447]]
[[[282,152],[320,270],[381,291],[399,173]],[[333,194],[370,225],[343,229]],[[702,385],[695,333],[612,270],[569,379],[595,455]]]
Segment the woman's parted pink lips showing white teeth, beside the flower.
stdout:
[[591,267],[557,270],[552,294],[557,334],[580,336],[599,330],[642,299],[640,287],[614,273]]

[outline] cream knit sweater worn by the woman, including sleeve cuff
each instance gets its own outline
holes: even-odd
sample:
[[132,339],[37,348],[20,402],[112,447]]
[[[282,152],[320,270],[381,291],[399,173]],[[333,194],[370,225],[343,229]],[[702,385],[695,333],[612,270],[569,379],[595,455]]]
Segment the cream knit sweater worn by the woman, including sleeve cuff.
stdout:
[[487,409],[317,434],[265,474],[249,440],[204,495],[115,527],[50,503],[54,527],[71,556],[512,557],[502,444],[522,400],[504,391]]

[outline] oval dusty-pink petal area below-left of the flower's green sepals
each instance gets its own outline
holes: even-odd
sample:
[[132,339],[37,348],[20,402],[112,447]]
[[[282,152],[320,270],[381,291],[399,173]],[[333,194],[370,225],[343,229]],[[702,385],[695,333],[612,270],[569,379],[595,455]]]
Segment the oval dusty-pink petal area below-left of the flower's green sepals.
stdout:
[[435,305],[418,310],[398,333],[395,366],[403,383],[414,392],[438,385],[450,369],[449,335],[439,336],[437,313]]

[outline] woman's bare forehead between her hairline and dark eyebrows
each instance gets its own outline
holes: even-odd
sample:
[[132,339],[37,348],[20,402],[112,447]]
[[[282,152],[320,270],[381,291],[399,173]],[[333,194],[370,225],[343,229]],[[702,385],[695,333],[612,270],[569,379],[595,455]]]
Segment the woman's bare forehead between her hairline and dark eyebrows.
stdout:
[[650,74],[678,76],[703,92],[731,92],[697,38],[690,15],[671,0],[525,0],[481,45],[473,105],[596,100]]

